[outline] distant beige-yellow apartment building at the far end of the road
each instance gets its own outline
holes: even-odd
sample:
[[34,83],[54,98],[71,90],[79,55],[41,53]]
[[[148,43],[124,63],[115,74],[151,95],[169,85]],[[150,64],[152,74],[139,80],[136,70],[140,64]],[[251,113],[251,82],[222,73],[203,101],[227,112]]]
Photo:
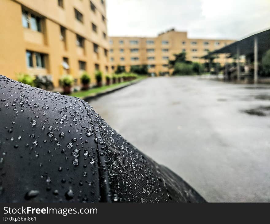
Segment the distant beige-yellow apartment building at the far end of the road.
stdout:
[[[201,59],[208,51],[214,51],[231,44],[234,40],[190,39],[187,32],[174,29],[160,33],[157,37],[109,37],[110,66],[115,71],[118,65],[129,71],[132,65],[148,65],[149,73],[168,74],[168,60],[174,59],[174,54],[186,52],[187,60],[204,63]],[[214,62],[225,64],[225,55],[219,55]]]

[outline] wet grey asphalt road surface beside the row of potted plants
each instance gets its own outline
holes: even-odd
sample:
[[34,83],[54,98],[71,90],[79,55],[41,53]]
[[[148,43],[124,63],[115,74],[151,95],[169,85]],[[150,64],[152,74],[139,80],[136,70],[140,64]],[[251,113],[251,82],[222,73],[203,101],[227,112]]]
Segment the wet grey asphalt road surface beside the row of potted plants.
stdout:
[[[270,202],[270,86],[148,78],[90,102],[210,202]],[[268,109],[268,110],[267,110]],[[251,111],[253,112],[253,110]]]

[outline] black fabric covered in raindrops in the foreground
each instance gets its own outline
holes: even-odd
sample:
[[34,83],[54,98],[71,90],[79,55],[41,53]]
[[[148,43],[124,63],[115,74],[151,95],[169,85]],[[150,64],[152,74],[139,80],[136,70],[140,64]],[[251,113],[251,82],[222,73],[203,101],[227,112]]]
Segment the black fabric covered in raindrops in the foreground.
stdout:
[[204,202],[79,98],[0,76],[0,117],[0,202]]

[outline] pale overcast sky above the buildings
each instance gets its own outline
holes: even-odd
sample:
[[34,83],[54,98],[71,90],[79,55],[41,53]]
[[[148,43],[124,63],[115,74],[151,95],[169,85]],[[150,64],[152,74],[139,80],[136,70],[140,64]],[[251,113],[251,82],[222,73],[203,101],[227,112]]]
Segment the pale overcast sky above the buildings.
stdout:
[[270,29],[270,0],[107,0],[107,17],[109,36],[175,28],[189,38],[239,40]]

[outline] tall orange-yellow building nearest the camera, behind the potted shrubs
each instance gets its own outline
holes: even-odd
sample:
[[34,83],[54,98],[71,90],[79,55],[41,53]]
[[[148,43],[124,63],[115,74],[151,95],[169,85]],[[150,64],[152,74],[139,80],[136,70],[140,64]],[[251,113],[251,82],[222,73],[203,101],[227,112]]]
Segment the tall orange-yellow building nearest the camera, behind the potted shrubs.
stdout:
[[109,70],[105,0],[1,0],[0,74]]

